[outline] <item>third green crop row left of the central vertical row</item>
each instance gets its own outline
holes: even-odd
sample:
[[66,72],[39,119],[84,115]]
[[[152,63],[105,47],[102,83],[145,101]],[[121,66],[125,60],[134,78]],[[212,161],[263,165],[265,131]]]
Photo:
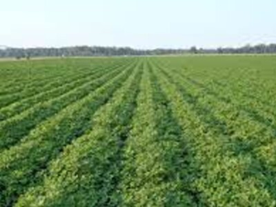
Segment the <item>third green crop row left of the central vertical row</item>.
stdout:
[[[73,88],[72,90],[64,93],[63,95],[50,99],[49,101],[41,101],[34,105],[32,108],[19,113],[18,115],[2,121],[0,123],[0,148],[8,148],[16,144],[20,139],[28,135],[30,130],[41,123],[41,121],[48,117],[55,115],[59,110],[68,106],[79,99],[86,97],[103,83],[108,81],[111,77],[121,72],[122,68],[112,70],[102,76],[102,74],[95,75],[87,83],[82,86]],[[12,128],[13,130],[10,130]]]

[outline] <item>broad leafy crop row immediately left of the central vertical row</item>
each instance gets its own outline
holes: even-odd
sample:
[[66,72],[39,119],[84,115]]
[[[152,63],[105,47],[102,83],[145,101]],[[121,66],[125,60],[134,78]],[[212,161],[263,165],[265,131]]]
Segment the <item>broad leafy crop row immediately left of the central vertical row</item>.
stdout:
[[[135,109],[141,66],[99,108],[92,130],[64,148],[48,175],[15,206],[113,206],[117,203],[121,147]],[[55,190],[54,190],[55,189]],[[78,192],[78,193],[75,193]]]

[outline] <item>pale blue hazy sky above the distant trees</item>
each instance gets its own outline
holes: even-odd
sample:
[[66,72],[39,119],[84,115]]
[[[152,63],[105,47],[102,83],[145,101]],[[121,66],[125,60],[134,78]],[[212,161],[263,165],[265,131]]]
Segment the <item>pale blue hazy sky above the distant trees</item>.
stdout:
[[275,0],[0,0],[0,45],[12,47],[273,42]]

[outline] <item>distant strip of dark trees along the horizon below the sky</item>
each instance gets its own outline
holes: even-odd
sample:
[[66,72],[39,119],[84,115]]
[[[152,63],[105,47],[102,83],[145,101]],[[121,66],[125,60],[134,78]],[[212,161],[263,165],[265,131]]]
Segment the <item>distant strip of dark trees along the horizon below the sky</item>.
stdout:
[[241,48],[197,48],[190,49],[162,49],[137,50],[133,48],[74,46],[64,48],[2,48],[0,57],[14,57],[17,59],[30,57],[75,57],[75,56],[128,56],[128,55],[181,55],[181,54],[263,54],[276,53],[276,44],[246,45]]

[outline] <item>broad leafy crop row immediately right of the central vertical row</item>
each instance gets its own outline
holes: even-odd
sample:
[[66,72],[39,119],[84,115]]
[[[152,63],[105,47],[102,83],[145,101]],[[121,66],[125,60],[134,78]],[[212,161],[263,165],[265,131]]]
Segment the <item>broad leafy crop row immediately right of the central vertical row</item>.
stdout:
[[[160,69],[161,70],[161,69]],[[174,101],[175,116],[185,129],[187,144],[194,153],[193,166],[195,168],[192,186],[198,192],[200,204],[206,206],[273,206],[275,201],[269,190],[262,186],[256,177],[251,176],[250,157],[235,153],[232,139],[233,131],[225,123],[215,117],[211,109],[215,108],[219,115],[223,115],[225,104],[217,105],[217,101],[210,102],[206,94],[189,91],[191,86],[183,85],[183,80],[177,74],[161,71],[167,79],[164,86]],[[160,78],[160,80],[162,80]],[[175,81],[177,80],[177,81]],[[172,86],[168,82],[174,83]],[[164,83],[165,84],[165,83]],[[174,96],[173,96],[174,95]],[[177,99],[179,101],[177,101]],[[213,105],[212,105],[213,103]],[[210,107],[208,108],[208,105]],[[235,116],[235,112],[234,115]],[[228,117],[230,121],[230,117]],[[239,123],[242,124],[242,123]],[[242,126],[245,126],[243,123]],[[196,129],[196,130],[195,130]],[[236,146],[238,150],[239,146]]]

